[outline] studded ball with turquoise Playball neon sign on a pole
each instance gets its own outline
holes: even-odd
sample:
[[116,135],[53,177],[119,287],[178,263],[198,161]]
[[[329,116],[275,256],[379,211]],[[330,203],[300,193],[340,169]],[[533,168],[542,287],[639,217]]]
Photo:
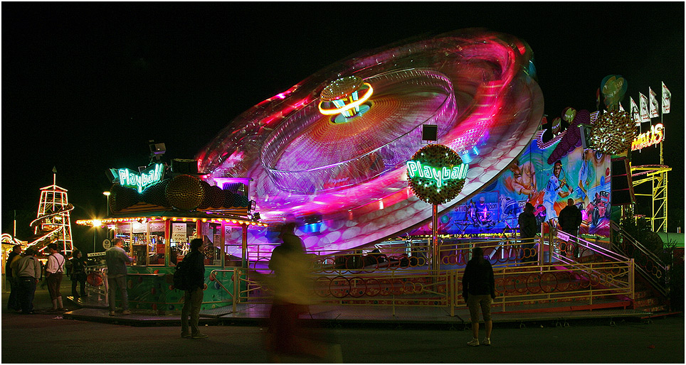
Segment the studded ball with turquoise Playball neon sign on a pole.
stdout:
[[460,194],[468,165],[455,151],[431,144],[417,151],[407,163],[407,177],[414,195],[430,204],[444,204]]

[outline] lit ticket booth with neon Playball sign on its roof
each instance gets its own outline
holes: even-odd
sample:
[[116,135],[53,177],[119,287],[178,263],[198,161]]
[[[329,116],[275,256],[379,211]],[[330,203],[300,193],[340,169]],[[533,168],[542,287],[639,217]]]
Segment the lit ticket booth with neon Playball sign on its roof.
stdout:
[[[167,169],[154,164],[139,175],[128,169],[117,170],[108,195],[110,215],[77,224],[107,229],[103,250],[112,246],[112,239],[124,240],[125,251],[134,259],[127,272],[131,309],[157,314],[181,310],[184,292],[174,288],[173,273],[176,263],[189,253],[190,241],[196,238],[203,239],[205,255],[202,309],[231,305],[233,291],[238,288],[233,288],[234,272],[226,268],[247,267],[248,229],[267,226],[257,221],[258,214],[250,213],[251,202],[244,195],[247,179],[206,182],[202,175],[174,173],[165,179]],[[100,258],[100,263],[87,268],[92,291],[87,300],[104,306],[105,251],[89,256]],[[119,300],[117,295],[117,303]]]

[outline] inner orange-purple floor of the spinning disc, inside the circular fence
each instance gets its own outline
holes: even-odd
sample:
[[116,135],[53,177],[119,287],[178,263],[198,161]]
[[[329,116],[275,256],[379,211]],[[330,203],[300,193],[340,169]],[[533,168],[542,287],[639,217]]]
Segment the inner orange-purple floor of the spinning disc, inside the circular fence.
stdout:
[[433,70],[401,70],[364,80],[374,85],[369,111],[345,123],[316,102],[286,119],[263,145],[262,162],[284,191],[315,194],[387,173],[421,148],[422,124],[454,120],[450,80]]

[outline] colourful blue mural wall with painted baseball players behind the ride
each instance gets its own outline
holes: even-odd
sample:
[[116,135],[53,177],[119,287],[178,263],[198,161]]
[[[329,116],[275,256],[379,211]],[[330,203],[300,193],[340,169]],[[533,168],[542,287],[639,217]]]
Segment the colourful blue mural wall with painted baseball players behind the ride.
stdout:
[[[502,234],[517,227],[517,217],[531,202],[537,221],[557,224],[569,198],[581,210],[583,234],[609,234],[610,156],[576,147],[550,165],[547,161],[559,140],[536,138],[498,180],[467,203],[439,219],[440,234]],[[559,161],[559,163],[557,162]],[[431,234],[424,226],[411,234]]]

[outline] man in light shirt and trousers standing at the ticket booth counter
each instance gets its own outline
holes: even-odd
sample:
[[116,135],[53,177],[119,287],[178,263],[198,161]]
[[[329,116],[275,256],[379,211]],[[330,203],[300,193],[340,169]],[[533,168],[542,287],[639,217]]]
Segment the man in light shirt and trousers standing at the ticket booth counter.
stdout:
[[117,289],[122,294],[122,315],[130,315],[129,295],[126,291],[126,266],[133,262],[126,251],[124,251],[124,240],[115,238],[112,240],[112,247],[105,251],[105,262],[107,263],[107,296],[110,299],[110,315],[116,315],[115,295]]

